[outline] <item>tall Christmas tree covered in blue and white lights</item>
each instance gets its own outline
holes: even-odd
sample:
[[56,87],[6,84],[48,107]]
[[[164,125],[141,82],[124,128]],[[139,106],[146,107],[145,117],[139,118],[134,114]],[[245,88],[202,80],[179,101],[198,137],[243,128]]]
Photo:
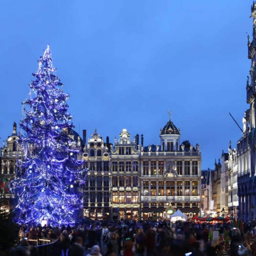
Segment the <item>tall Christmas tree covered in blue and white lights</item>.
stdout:
[[[77,193],[82,161],[70,132],[62,83],[55,75],[50,47],[38,60],[29,97],[22,102],[20,144],[24,157],[17,161],[11,190],[16,194],[18,223],[73,224],[82,207]],[[74,137],[74,136],[73,136]]]

